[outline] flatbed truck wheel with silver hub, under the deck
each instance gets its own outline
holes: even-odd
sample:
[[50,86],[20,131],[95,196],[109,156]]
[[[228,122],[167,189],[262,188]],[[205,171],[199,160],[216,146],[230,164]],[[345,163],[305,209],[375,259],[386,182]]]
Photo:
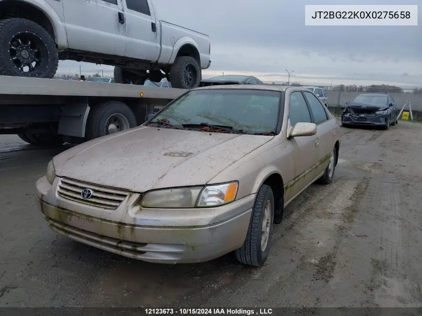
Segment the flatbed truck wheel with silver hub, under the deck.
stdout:
[[86,122],[88,140],[136,127],[136,117],[123,102],[108,101],[91,110]]

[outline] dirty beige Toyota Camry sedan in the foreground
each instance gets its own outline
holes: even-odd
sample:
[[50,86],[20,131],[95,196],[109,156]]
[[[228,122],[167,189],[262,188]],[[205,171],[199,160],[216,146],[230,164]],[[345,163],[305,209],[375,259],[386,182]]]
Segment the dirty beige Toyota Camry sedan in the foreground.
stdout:
[[196,88],[141,126],[55,156],[37,204],[53,231],[115,254],[176,264],[234,252],[260,266],[284,208],[333,181],[340,143],[308,89]]

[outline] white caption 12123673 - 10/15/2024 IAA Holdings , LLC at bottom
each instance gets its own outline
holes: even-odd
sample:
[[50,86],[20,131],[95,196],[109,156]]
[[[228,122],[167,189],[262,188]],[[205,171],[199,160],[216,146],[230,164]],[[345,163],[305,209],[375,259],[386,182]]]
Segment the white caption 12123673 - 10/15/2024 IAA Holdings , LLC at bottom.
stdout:
[[271,315],[272,309],[235,309],[235,308],[202,308],[202,309],[144,309],[145,315]]

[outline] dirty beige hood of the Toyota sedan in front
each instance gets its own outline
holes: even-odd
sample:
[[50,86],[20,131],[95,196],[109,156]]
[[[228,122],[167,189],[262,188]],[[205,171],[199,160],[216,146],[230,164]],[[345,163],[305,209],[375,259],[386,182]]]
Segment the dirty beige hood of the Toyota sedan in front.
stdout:
[[204,185],[273,138],[144,126],[75,146],[53,162],[59,177],[145,192]]

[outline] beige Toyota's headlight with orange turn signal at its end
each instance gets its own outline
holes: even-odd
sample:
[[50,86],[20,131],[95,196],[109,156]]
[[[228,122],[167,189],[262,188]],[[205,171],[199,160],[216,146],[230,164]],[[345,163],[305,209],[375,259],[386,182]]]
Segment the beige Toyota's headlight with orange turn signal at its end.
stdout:
[[225,183],[205,187],[172,188],[145,193],[141,207],[145,208],[195,208],[213,207],[235,200],[238,183]]

